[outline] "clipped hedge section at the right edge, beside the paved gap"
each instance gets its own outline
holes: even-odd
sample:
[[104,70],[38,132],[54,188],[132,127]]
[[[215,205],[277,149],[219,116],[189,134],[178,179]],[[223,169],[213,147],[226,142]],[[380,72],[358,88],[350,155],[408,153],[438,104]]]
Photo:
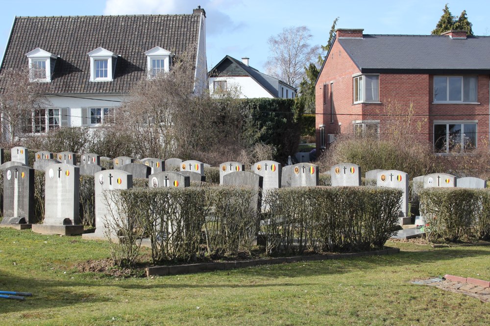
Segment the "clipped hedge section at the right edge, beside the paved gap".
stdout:
[[429,241],[490,239],[490,192],[486,189],[427,188],[419,193]]

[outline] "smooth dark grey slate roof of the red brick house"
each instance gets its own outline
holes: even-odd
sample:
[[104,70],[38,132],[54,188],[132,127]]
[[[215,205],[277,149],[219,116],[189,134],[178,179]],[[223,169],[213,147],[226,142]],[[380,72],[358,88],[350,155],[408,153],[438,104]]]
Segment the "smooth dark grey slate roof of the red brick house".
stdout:
[[451,39],[444,35],[371,35],[338,38],[361,72],[418,70],[425,73],[490,73],[490,37]]

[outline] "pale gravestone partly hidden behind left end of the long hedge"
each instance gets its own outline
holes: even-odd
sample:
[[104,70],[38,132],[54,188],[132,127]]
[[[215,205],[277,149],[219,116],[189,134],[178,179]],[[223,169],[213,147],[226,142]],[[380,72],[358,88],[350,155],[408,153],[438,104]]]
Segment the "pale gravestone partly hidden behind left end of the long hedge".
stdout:
[[[122,170],[105,170],[95,174],[95,232],[82,235],[83,239],[117,238],[114,224],[120,218],[116,203],[105,193],[109,190],[130,189],[133,187],[133,175]],[[111,214],[112,208],[112,214]]]

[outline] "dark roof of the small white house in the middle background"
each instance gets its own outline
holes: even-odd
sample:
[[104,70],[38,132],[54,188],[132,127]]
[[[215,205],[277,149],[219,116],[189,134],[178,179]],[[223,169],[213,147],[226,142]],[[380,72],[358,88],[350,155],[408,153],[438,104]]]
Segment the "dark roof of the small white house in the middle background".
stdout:
[[209,77],[225,77],[225,76],[250,76],[259,85],[264,87],[270,95],[278,97],[279,95],[279,84],[282,83],[286,86],[296,89],[285,82],[274,78],[272,76],[266,75],[259,70],[245,65],[240,60],[237,60],[229,55],[225,56],[217,65],[215,65],[209,71]]

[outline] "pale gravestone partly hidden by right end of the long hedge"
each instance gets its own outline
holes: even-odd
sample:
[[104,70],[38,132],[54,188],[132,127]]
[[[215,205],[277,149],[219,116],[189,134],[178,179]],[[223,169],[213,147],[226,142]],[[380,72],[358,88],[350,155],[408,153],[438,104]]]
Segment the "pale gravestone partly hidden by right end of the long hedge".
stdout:
[[412,218],[408,211],[408,174],[398,170],[387,170],[378,172],[376,177],[377,187],[389,187],[400,189],[403,195],[400,198],[401,210],[400,210],[400,224],[410,224]]

